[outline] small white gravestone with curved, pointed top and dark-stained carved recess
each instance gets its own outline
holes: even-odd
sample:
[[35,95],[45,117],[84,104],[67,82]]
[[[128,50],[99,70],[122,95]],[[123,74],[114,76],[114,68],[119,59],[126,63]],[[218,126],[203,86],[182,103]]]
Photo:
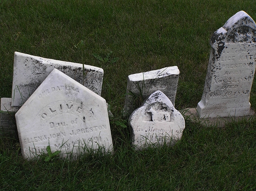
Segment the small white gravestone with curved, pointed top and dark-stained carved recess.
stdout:
[[137,150],[148,146],[175,144],[181,138],[185,120],[161,91],[152,93],[130,115],[132,144]]

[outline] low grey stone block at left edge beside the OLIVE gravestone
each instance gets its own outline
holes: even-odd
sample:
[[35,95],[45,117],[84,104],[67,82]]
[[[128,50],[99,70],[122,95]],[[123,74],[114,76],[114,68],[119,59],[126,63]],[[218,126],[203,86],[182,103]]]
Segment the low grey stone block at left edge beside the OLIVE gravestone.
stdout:
[[19,107],[11,107],[11,102],[12,98],[1,98],[0,136],[18,138],[14,114]]

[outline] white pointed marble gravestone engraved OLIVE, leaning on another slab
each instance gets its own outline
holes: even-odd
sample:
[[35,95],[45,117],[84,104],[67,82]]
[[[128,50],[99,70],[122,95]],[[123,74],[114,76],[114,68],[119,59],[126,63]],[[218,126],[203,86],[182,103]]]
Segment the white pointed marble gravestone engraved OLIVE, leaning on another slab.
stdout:
[[15,115],[22,156],[112,150],[106,100],[54,69]]

